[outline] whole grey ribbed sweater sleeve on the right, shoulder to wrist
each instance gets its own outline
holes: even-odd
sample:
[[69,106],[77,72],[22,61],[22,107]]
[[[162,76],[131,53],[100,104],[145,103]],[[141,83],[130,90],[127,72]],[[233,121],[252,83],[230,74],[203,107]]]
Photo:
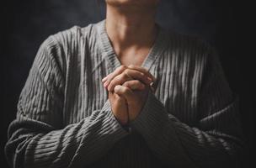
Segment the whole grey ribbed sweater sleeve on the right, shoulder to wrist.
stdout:
[[243,151],[237,97],[228,87],[214,52],[205,59],[198,97],[198,123],[182,123],[149,92],[147,102],[131,128],[152,151],[174,167],[239,166]]

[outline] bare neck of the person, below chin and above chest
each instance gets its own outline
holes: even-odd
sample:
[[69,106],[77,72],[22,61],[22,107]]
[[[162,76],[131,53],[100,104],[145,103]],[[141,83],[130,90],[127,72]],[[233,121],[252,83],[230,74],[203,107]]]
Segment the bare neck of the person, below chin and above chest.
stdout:
[[145,10],[107,5],[106,30],[117,54],[131,48],[151,47],[157,34],[156,10]]

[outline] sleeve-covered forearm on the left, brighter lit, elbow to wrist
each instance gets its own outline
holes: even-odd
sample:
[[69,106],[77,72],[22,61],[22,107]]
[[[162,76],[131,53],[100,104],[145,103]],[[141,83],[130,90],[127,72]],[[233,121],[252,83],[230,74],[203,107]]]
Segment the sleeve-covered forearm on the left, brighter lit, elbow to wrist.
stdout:
[[[6,145],[13,167],[83,167],[104,155],[127,132],[111,113],[109,102],[88,118],[54,130],[35,120],[14,121]],[[31,128],[32,127],[32,128]],[[19,163],[19,164],[18,164]]]

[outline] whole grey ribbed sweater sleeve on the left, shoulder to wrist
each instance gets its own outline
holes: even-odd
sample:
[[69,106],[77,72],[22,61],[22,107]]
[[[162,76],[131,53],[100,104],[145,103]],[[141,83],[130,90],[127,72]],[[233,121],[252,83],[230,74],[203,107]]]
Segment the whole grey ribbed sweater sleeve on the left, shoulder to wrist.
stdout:
[[5,154],[12,167],[84,167],[128,134],[109,100],[79,123],[62,127],[63,78],[59,48],[51,37],[40,46],[8,128]]

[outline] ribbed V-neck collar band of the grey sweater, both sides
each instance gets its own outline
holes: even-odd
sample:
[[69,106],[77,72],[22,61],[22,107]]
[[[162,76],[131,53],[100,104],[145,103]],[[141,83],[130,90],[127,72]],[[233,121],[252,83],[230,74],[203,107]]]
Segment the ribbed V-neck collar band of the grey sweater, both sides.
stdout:
[[[98,32],[99,32],[99,38],[100,42],[99,45],[102,49],[102,55],[104,59],[107,59],[109,68],[112,68],[112,71],[115,71],[116,68],[121,66],[121,62],[118,59],[117,55],[115,54],[115,50],[113,46],[111,45],[109,36],[106,31],[105,24],[106,20],[99,22],[96,24]],[[163,28],[159,26],[159,31],[157,33],[157,37],[155,39],[154,44],[152,45],[151,50],[147,54],[145,60],[143,60],[141,66],[146,68],[147,70],[150,70],[153,66],[153,63],[155,60],[157,60],[158,57],[160,57],[163,53],[163,49],[166,45],[166,34],[164,34]]]

